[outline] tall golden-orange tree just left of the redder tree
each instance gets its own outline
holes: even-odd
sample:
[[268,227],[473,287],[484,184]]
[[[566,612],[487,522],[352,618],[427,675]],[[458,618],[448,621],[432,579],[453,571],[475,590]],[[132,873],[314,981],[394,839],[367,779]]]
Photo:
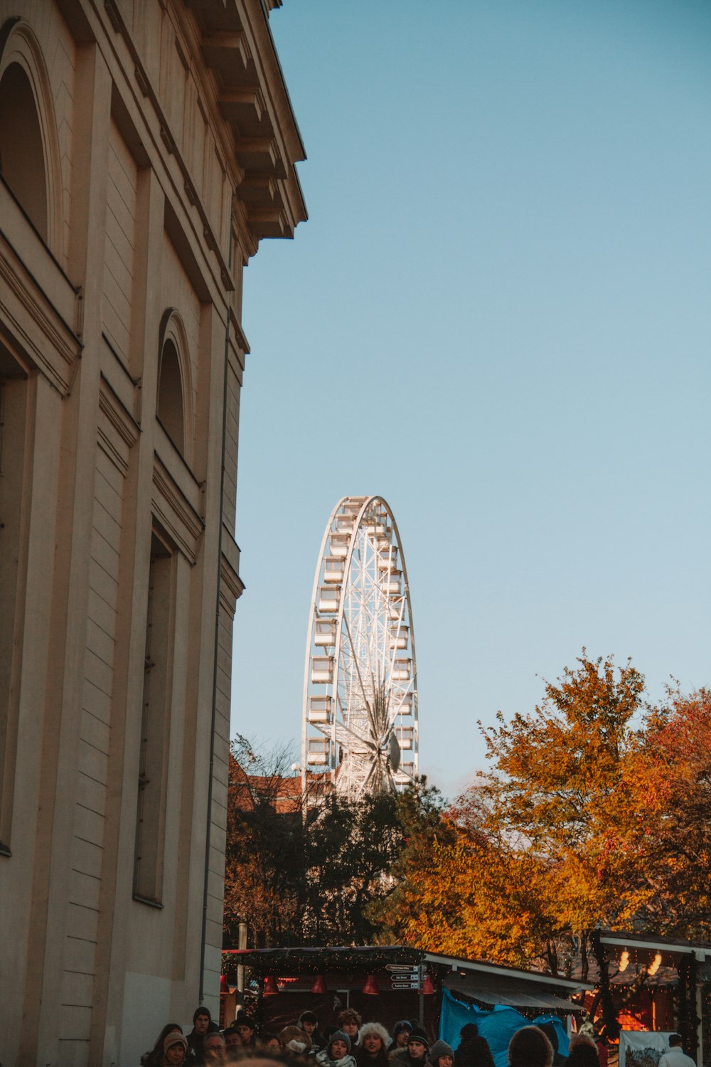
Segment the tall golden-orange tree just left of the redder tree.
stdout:
[[545,684],[533,715],[517,714],[483,729],[491,769],[481,789],[483,828],[507,850],[532,853],[545,871],[547,911],[554,917],[545,945],[551,969],[561,944],[599,921],[615,925],[643,903],[636,872],[613,845],[629,803],[624,768],[635,719],[642,719],[644,678],[628,663],[587,657]]

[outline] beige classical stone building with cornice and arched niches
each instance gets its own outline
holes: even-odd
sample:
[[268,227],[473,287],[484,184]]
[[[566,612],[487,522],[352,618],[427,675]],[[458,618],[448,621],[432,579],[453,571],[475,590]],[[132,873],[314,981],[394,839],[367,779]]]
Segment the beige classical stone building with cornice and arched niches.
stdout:
[[0,0],[5,1065],[216,1010],[242,272],[306,217],[278,5]]

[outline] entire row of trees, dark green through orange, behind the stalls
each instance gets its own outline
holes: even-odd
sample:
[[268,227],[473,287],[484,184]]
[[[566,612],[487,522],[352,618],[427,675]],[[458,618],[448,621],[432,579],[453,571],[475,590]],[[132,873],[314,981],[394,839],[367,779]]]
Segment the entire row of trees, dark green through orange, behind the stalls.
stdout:
[[379,940],[552,973],[581,953],[584,974],[597,925],[711,939],[709,690],[651,707],[629,662],[583,650],[533,714],[482,732],[489,768],[446,809],[422,781],[332,795],[304,823],[262,784],[226,914],[262,943]]

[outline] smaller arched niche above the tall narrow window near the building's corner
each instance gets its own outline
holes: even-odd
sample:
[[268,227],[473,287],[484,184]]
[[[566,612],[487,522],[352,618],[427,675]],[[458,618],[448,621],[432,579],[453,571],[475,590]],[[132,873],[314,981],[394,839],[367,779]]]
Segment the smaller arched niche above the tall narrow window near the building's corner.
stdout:
[[161,321],[156,414],[187,463],[192,460],[193,412],[188,337],[182,319],[168,307]]

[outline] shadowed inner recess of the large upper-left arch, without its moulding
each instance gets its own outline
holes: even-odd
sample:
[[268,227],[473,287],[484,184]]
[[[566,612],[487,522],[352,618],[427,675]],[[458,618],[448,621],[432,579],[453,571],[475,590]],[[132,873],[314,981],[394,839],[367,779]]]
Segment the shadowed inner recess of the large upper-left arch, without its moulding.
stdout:
[[47,178],[32,86],[19,63],[0,78],[0,171],[47,241]]

